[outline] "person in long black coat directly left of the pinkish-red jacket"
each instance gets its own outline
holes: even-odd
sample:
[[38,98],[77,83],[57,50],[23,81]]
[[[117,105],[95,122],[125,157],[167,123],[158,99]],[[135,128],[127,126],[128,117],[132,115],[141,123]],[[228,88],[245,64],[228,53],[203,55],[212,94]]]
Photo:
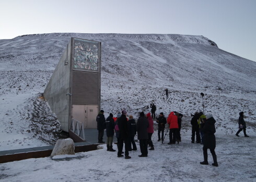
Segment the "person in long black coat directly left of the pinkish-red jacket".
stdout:
[[148,151],[147,151],[147,140],[148,140],[148,120],[145,117],[144,112],[139,113],[139,118],[136,124],[136,130],[138,133],[138,140],[139,140],[139,147],[141,148],[141,155],[138,155],[138,157],[147,157]]

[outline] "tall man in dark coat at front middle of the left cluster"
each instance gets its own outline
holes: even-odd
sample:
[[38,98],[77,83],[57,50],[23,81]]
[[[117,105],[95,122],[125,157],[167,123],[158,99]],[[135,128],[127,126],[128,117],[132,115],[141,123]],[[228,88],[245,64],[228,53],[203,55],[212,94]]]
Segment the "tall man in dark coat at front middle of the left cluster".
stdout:
[[123,150],[123,142],[124,142],[124,149],[125,149],[125,159],[131,159],[129,156],[129,128],[126,118],[127,112],[125,110],[122,110],[122,115],[118,120],[118,127],[119,127],[119,140],[120,145],[118,148],[118,157],[123,157],[122,150]]

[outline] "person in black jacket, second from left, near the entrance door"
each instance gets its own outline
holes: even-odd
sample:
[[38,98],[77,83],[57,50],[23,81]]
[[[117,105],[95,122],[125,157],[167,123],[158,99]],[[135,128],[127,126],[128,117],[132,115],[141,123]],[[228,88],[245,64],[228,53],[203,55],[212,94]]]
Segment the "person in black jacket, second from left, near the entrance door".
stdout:
[[114,119],[113,114],[110,113],[106,120],[106,134],[107,134],[107,151],[115,152],[112,146],[114,136]]

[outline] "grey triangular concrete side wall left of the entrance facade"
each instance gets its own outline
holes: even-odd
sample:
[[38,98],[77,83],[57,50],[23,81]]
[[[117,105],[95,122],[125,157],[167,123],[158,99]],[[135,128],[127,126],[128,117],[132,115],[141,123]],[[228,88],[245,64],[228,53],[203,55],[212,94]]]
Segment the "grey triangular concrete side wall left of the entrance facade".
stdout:
[[68,132],[68,121],[71,115],[71,96],[66,95],[71,93],[71,44],[72,41],[68,43],[67,48],[43,93],[52,112],[57,115],[62,130],[65,132]]

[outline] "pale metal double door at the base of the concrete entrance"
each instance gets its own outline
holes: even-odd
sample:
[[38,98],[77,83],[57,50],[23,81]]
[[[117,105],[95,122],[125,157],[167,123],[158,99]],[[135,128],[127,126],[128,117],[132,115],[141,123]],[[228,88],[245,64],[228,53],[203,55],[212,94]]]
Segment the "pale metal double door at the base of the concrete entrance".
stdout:
[[72,117],[82,123],[84,128],[97,128],[96,117],[98,106],[96,105],[73,105]]

